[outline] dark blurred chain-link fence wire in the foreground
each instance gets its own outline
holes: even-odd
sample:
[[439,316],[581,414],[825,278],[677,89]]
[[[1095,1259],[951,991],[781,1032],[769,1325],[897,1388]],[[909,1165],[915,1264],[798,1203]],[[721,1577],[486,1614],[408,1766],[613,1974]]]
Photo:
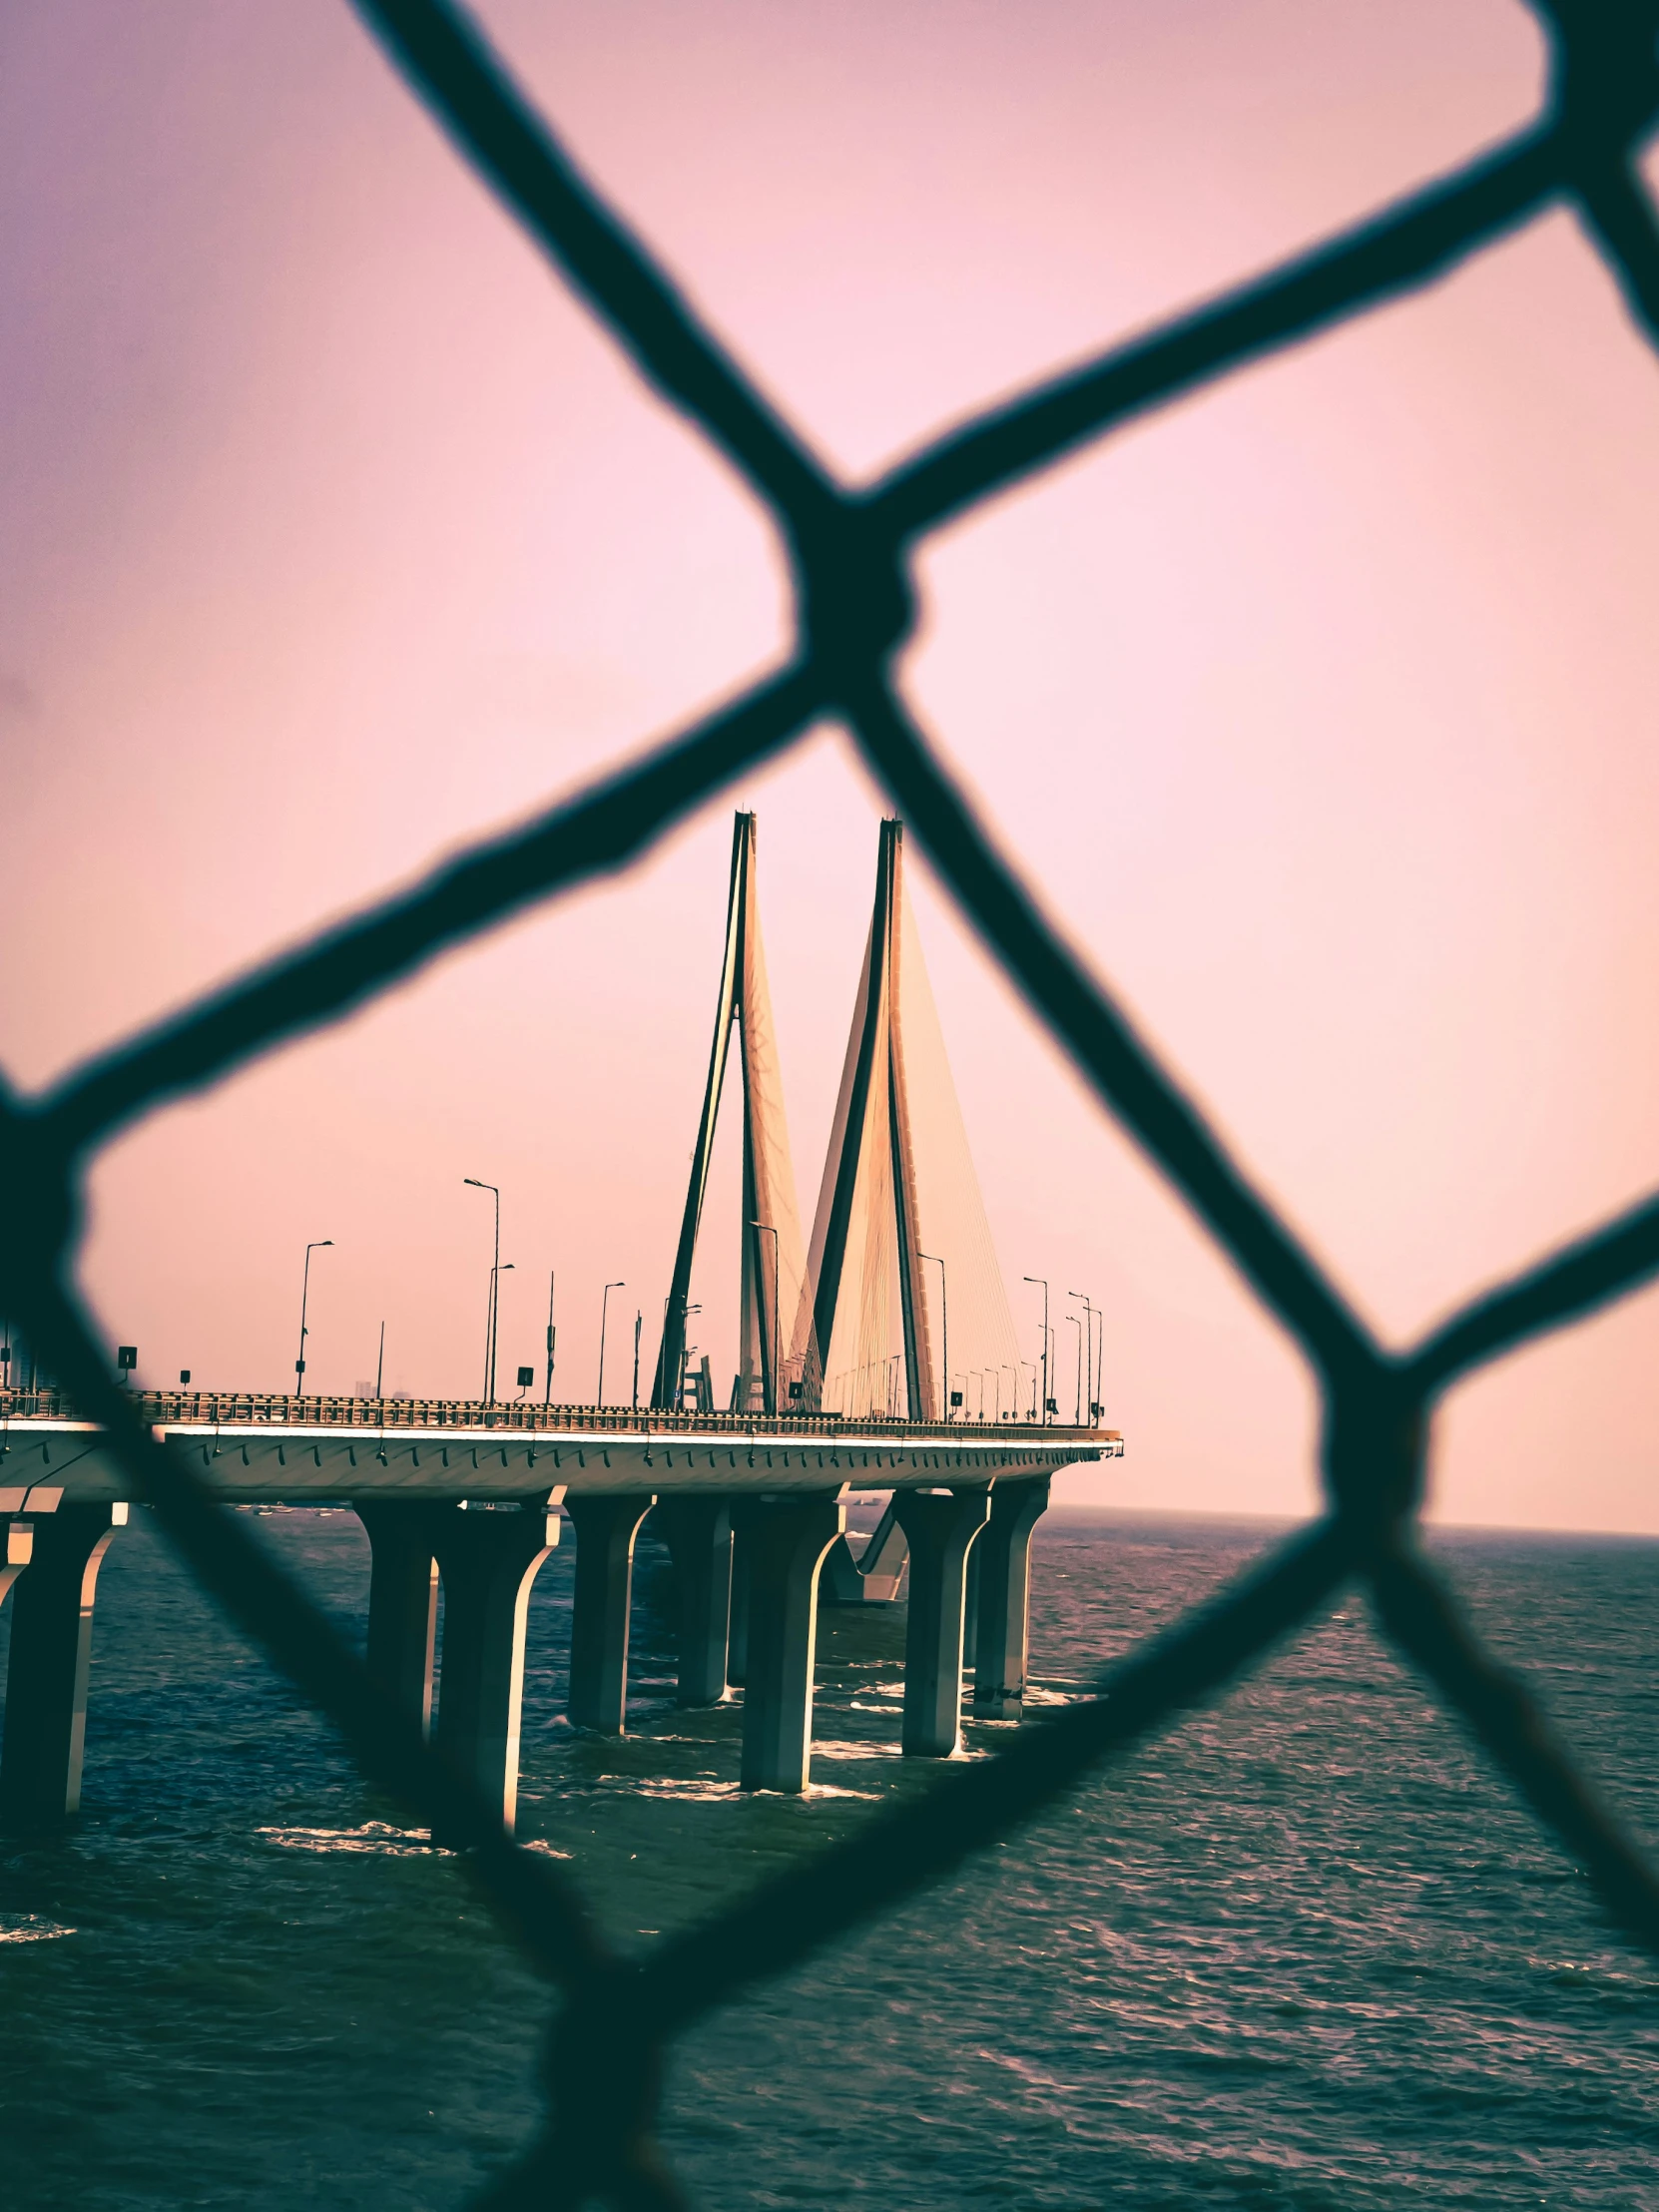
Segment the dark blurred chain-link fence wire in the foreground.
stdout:
[[[465,15],[447,0],[356,7],[458,150],[648,383],[763,502],[792,564],[794,648],[730,706],[568,805],[476,845],[409,896],[270,960],[55,1091],[20,1099],[0,1079],[0,1301],[77,1407],[108,1427],[135,1493],[155,1504],[197,1577],[334,1721],[365,1776],[469,1843],[473,1878],[562,1989],[546,2055],[546,2126],[491,2201],[681,2203],[655,2143],[670,2037],[947,1878],[1084,1772],[1214,1697],[1349,1584],[1367,1590],[1387,1637],[1579,1860],[1615,1927],[1659,1955],[1659,1874],[1577,1774],[1526,1688],[1480,1646],[1416,1544],[1425,1440],[1440,1396],[1482,1363],[1652,1274],[1659,1199],[1471,1298],[1411,1349],[1378,1345],[1042,918],[891,681],[894,655],[914,626],[907,560],[929,531],[1175,394],[1427,283],[1546,208],[1577,217],[1632,323],[1659,347],[1659,223],[1637,168],[1659,119],[1659,0],[1537,0],[1551,82],[1528,128],[1219,301],[951,429],[869,487],[838,482],[768,405],[575,173]],[[998,1756],[947,1772],[922,1798],[876,1814],[849,1840],[759,1885],[641,1962],[602,1940],[568,1874],[509,1843],[489,1807],[374,1690],[246,1520],[215,1504],[108,1380],[106,1347],[71,1281],[82,1177],[124,1124],[343,1015],[440,947],[626,865],[823,717],[849,728],[984,942],[1305,1352],[1323,1396],[1327,1504],[1265,1564],[1119,1661],[1095,1697],[1022,1730]]]

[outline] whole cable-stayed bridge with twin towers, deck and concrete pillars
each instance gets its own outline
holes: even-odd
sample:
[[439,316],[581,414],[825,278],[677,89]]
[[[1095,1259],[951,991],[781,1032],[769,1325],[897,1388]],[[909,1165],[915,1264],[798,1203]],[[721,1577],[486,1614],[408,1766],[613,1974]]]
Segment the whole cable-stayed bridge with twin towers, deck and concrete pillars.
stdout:
[[[1093,1347],[1088,1427],[1055,1422],[1046,1371],[1042,1387],[1033,1376],[1024,1409],[902,858],[902,825],[883,823],[805,1241],[761,947],[757,823],[737,816],[714,1040],[650,1407],[135,1394],[142,1418],[199,1455],[228,1504],[356,1509],[372,1548],[369,1668],[509,1825],[526,1604],[564,1526],[577,1546],[577,1728],[624,1728],[633,1551],[646,1515],[675,1564],[679,1703],[741,1692],[745,1787],[807,1787],[821,1604],[907,1606],[907,1754],[958,1747],[964,1650],[971,1710],[1020,1719],[1031,1533],[1048,1482],[1062,1467],[1119,1455],[1124,1440],[1097,1425]],[[688,1371],[686,1318],[732,1064],[743,1113],[741,1318],[737,1371],[717,1407],[708,1360]],[[975,1405],[969,1376],[980,1380]],[[1013,1378],[1006,1396],[1002,1376]],[[856,1553],[852,1491],[887,1495]],[[126,1517],[104,1433],[51,1389],[0,1391],[0,1599],[13,1615],[0,1825],[13,1832],[51,1827],[80,1803],[97,1568]]]

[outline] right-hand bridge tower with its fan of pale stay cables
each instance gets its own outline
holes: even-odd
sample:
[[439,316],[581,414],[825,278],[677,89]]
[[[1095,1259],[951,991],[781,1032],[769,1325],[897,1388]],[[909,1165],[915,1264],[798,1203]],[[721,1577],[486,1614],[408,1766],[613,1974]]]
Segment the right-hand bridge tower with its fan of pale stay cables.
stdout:
[[953,1374],[1002,1374],[1018,1363],[905,889],[900,821],[880,825],[876,900],[807,1265],[812,1305],[796,1323],[794,1349],[810,1369],[816,1409],[854,1420],[947,1420]]

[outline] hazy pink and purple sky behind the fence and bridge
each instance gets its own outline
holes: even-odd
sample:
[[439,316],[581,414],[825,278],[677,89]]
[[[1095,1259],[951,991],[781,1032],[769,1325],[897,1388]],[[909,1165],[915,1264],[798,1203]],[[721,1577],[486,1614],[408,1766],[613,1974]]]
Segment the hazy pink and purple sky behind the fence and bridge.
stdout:
[[[836,467],[1513,128],[1500,0],[498,4],[575,155]],[[330,0],[0,29],[0,1051],[15,1082],[418,872],[763,668],[763,518]],[[918,712],[1051,911],[1389,1338],[1655,1181],[1659,363],[1564,217],[933,542]],[[659,1310],[730,810],[803,1206],[878,794],[832,730],[630,876],[173,1108],[84,1279],[142,1376],[591,1396]],[[1108,1314],[1137,1506],[1296,1511],[1294,1349],[927,883],[1015,1314]],[[730,1130],[728,1130],[730,1135]],[[701,1343],[730,1374],[734,1148]],[[1071,1332],[1062,1329],[1062,1343]],[[646,1327],[648,1356],[655,1347]],[[1659,1301],[1447,1407],[1436,1513],[1659,1531]],[[1062,1398],[1066,1389],[1062,1387]]]

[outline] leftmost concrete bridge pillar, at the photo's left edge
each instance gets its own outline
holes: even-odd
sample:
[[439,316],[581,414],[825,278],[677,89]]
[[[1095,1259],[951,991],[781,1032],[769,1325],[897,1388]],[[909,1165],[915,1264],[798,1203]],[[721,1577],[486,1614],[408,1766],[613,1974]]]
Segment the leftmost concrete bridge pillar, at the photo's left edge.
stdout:
[[80,1807],[93,1595],[124,1504],[60,1504],[29,1515],[31,1559],[11,1599],[0,1827],[58,1827]]

